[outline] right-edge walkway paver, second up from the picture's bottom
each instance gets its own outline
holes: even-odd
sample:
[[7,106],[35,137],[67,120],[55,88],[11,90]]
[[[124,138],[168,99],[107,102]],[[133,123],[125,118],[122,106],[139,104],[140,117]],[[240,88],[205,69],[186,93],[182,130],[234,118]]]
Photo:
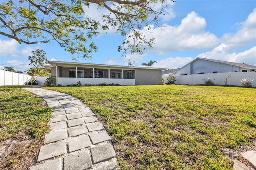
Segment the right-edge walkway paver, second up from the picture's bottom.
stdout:
[[94,164],[116,156],[116,152],[114,151],[112,145],[109,142],[91,148],[91,153]]

